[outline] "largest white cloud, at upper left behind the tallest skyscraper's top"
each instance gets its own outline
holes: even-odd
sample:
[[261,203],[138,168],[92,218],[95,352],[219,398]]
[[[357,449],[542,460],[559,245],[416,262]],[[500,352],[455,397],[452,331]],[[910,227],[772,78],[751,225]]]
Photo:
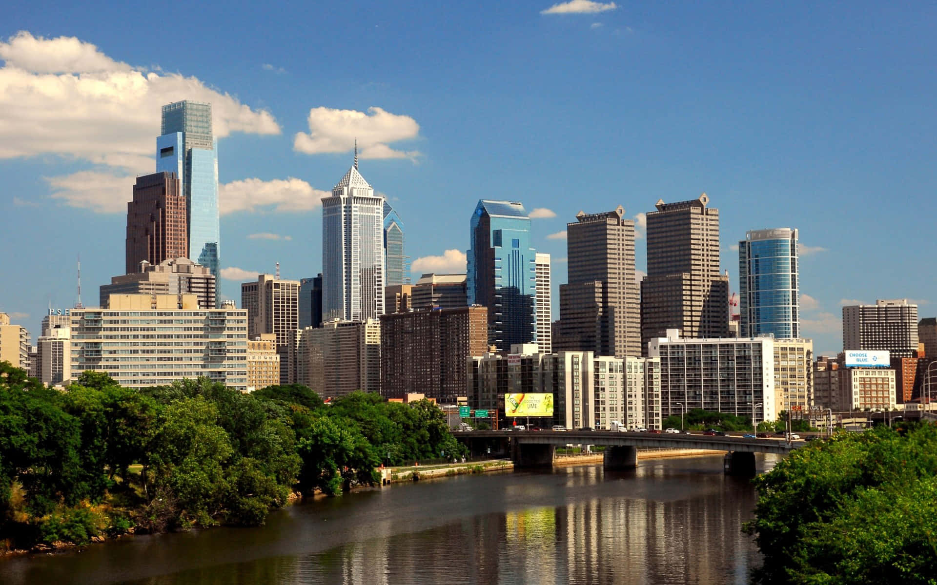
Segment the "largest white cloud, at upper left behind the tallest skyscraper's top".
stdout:
[[59,154],[149,172],[160,110],[183,99],[211,102],[217,138],[280,133],[270,112],[194,77],[115,61],[76,37],[20,32],[0,40],[0,58],[0,158]]

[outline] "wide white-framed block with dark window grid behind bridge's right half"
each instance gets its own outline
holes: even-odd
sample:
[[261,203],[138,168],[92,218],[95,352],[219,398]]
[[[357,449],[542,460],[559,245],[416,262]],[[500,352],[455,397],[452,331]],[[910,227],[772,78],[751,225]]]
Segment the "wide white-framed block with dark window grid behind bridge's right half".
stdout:
[[686,339],[677,333],[668,329],[648,346],[650,357],[661,358],[662,417],[702,408],[753,415],[758,422],[778,418],[774,338]]

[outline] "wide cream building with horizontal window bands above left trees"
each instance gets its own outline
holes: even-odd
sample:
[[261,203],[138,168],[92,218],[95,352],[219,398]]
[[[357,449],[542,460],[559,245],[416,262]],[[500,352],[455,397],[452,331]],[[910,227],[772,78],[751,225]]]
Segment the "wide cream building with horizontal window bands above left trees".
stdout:
[[110,375],[126,388],[209,378],[247,389],[247,312],[201,309],[196,295],[112,295],[72,309],[71,375]]

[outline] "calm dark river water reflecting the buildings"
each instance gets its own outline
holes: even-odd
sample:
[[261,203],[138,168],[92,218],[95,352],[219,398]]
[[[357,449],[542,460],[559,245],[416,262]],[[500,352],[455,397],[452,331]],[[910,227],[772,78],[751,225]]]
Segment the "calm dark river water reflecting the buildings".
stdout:
[[463,475],[290,506],[261,528],[0,560],[0,582],[744,584],[754,503],[721,456]]

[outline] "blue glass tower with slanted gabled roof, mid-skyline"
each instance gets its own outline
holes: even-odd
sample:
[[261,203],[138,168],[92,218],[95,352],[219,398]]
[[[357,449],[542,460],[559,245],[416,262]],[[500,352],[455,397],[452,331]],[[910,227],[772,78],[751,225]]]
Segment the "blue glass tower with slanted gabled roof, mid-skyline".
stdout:
[[537,251],[524,205],[482,199],[470,232],[468,304],[488,308],[488,344],[509,351],[512,344],[534,343]]

